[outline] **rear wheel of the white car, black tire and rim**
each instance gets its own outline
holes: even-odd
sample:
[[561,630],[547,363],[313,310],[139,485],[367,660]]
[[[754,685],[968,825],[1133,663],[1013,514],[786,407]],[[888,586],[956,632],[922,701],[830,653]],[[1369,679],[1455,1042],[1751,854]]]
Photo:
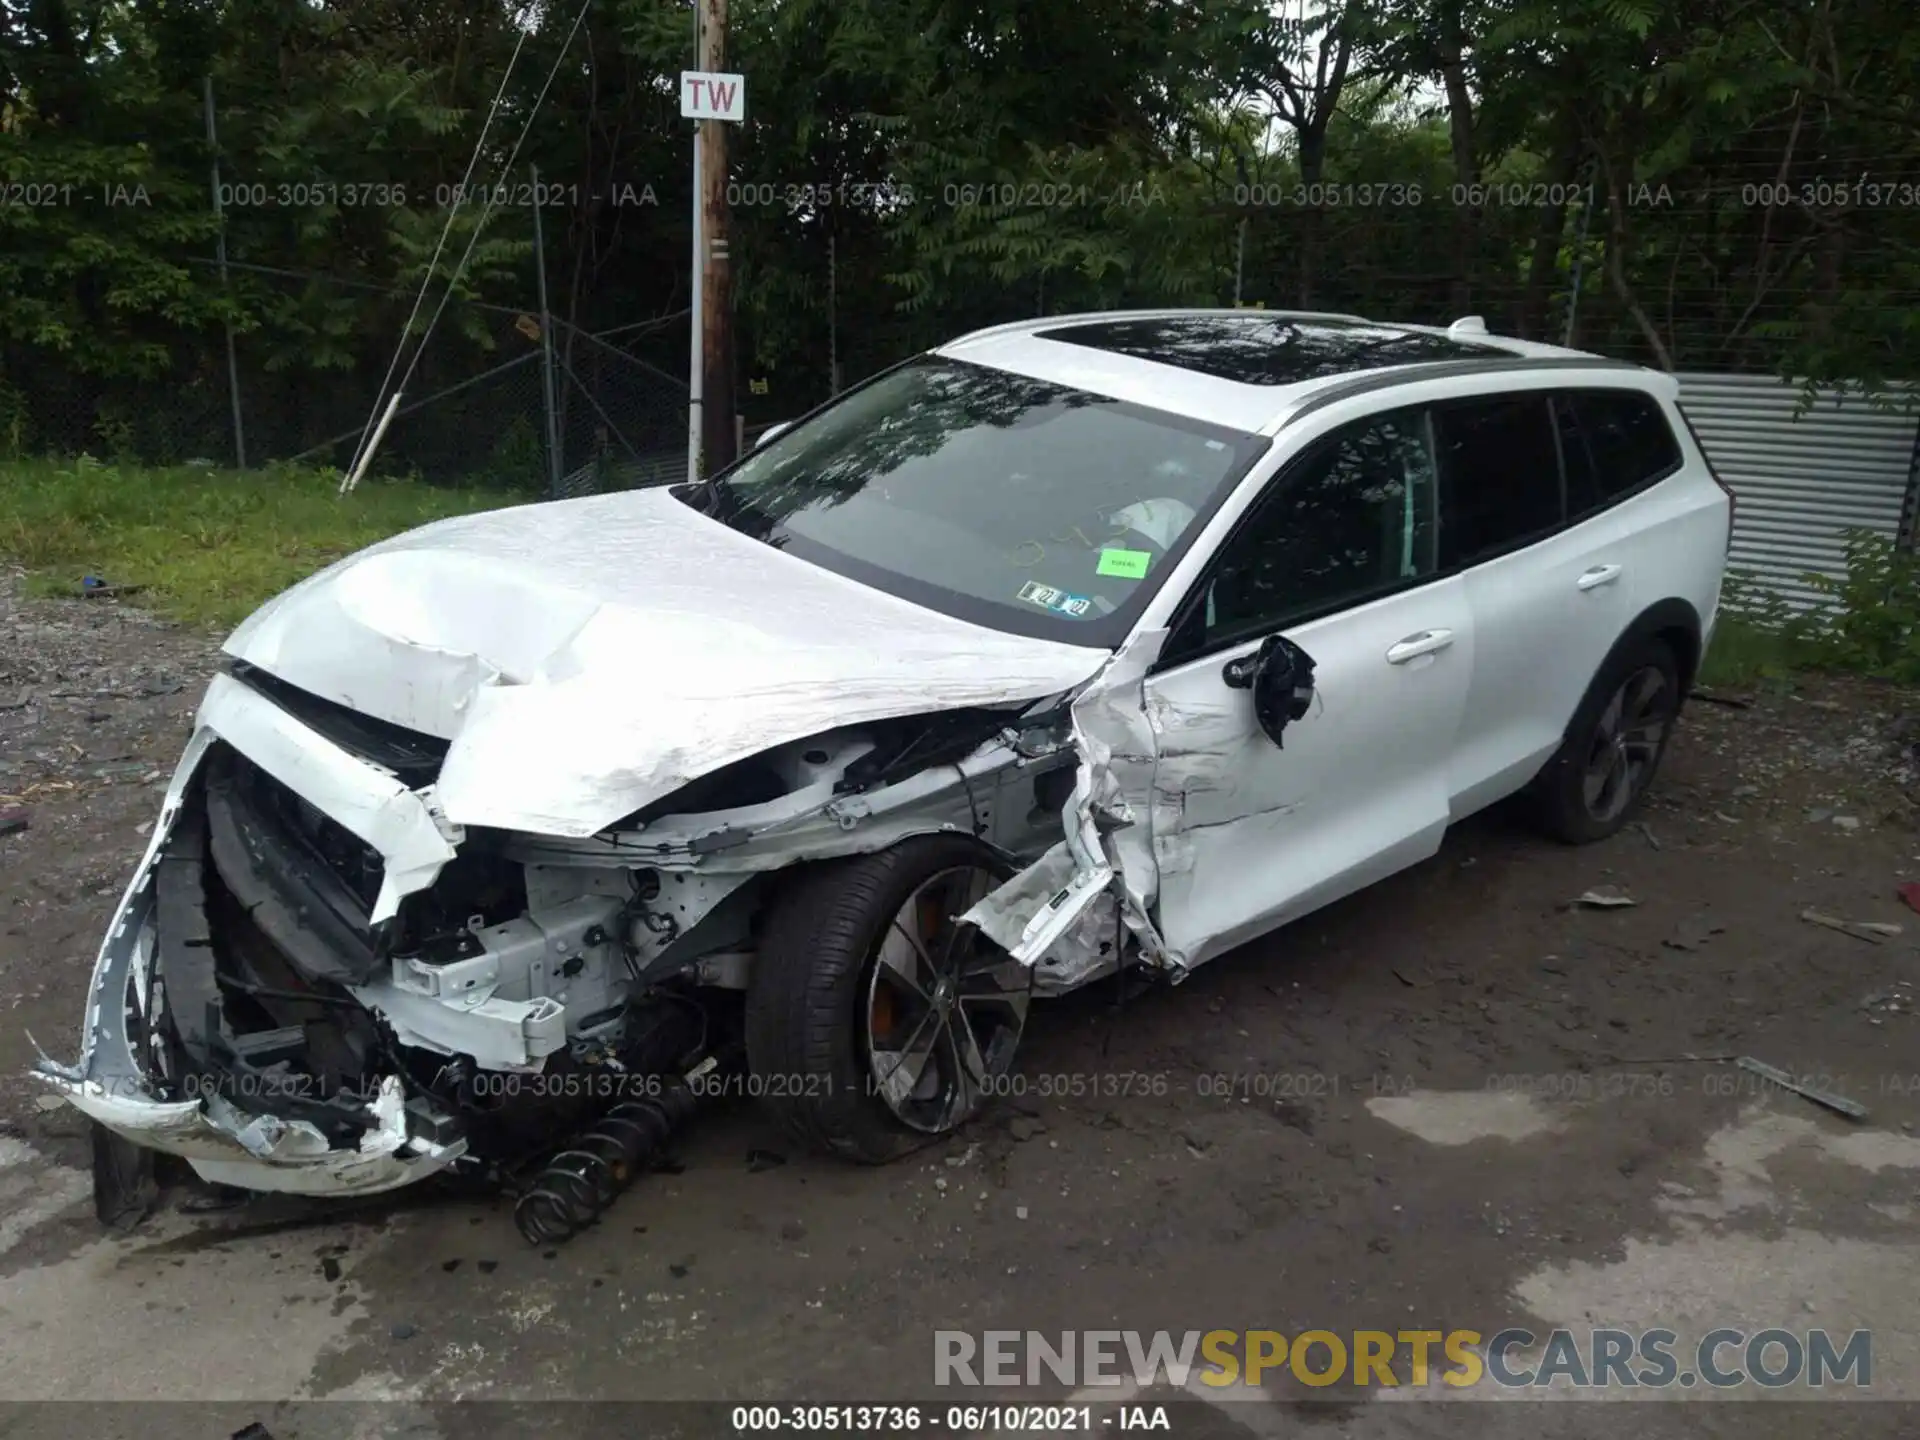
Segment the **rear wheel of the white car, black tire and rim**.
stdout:
[[[1653,691],[1642,699],[1649,685]],[[1567,739],[1534,781],[1540,822],[1553,839],[1592,845],[1640,812],[1672,739],[1680,699],[1680,662],[1665,639],[1640,636],[1607,657]],[[1657,733],[1649,735],[1647,724],[1655,722]],[[1622,739],[1628,733],[1634,737]],[[1626,785],[1624,795],[1605,781],[1596,787],[1601,764]]]

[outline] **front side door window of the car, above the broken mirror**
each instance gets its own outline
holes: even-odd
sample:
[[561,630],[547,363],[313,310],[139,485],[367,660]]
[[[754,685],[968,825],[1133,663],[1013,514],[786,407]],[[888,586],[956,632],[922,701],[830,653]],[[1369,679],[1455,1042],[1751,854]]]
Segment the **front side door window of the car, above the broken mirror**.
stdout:
[[1336,430],[1290,465],[1221,547],[1175,651],[1275,630],[1434,570],[1434,465],[1421,411]]

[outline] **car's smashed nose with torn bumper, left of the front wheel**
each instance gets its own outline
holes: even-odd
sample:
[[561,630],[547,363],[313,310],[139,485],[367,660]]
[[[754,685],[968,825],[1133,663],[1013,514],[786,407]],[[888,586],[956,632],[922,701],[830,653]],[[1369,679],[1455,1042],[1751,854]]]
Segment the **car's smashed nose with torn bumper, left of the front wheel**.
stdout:
[[303,1194],[511,1156],[605,1098],[605,1075],[555,1073],[616,1073],[636,1039],[620,887],[530,904],[497,837],[440,814],[445,749],[217,676],[102,945],[81,1062],[38,1075],[205,1181]]

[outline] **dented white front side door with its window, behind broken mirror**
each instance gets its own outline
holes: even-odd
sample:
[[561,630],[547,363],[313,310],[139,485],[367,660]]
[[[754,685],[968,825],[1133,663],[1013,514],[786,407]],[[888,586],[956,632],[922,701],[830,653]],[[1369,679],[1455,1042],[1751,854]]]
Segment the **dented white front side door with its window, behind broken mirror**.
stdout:
[[[1288,465],[1188,595],[1144,687],[1160,931],[1198,964],[1432,854],[1475,660],[1436,574],[1423,409],[1342,426]],[[1227,666],[1284,634],[1315,695],[1275,745]]]

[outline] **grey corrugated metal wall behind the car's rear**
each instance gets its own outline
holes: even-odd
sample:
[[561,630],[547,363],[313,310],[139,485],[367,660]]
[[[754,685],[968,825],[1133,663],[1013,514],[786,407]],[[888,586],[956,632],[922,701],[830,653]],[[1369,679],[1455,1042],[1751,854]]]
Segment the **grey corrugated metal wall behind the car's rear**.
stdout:
[[1899,536],[1914,482],[1920,419],[1822,390],[1799,413],[1797,386],[1759,374],[1680,374],[1680,409],[1734,488],[1730,570],[1793,603],[1818,593],[1809,570],[1845,574],[1847,530]]

